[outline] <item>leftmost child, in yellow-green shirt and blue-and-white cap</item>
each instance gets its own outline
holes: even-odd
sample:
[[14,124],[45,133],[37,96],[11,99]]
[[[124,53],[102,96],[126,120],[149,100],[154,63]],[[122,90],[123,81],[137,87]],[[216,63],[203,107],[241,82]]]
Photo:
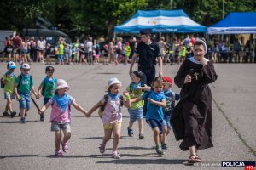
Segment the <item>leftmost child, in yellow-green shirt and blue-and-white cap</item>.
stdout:
[[[15,99],[15,62],[10,61],[7,64],[8,71],[3,75],[1,81],[3,82],[4,99],[7,100],[3,116],[11,116],[12,118],[16,115],[16,112],[12,109],[12,99]],[[10,115],[8,114],[10,112]]]

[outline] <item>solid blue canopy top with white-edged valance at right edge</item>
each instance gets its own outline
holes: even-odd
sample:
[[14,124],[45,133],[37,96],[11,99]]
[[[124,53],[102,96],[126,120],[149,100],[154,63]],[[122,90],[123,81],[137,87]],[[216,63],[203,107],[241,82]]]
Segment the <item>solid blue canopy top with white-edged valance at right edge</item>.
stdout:
[[255,34],[256,12],[230,13],[213,26],[207,28],[208,34]]

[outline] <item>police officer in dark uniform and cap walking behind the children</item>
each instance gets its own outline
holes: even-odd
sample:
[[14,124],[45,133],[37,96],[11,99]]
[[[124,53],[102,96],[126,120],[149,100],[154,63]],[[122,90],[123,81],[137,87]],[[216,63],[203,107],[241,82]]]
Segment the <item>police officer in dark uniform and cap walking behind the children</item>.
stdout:
[[154,80],[155,77],[154,65],[156,65],[156,59],[158,60],[160,68],[159,76],[162,77],[163,74],[163,63],[161,59],[160,48],[156,43],[151,41],[151,32],[151,29],[144,29],[140,31],[142,42],[137,45],[137,48],[134,51],[129,71],[129,74],[131,76],[132,67],[135,61],[137,61],[137,57],[139,56],[138,70],[143,71],[143,82],[146,83],[148,86],[151,85],[151,82]]

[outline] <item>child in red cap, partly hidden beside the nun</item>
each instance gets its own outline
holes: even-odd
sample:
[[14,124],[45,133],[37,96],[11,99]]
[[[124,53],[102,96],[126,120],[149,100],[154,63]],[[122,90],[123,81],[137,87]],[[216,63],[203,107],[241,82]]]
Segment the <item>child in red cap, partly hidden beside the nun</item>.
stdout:
[[161,146],[163,150],[167,150],[166,136],[170,133],[172,129],[170,121],[172,116],[172,111],[175,106],[175,100],[179,99],[179,94],[172,92],[172,78],[164,77],[164,94],[166,96],[166,107],[164,108],[164,133],[161,141]]

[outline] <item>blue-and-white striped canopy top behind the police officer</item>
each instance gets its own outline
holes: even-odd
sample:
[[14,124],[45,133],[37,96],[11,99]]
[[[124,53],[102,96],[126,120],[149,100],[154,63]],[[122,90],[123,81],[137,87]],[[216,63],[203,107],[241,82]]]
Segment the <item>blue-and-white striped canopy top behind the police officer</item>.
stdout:
[[207,27],[191,20],[183,10],[138,10],[130,20],[114,26],[114,32],[138,33],[142,29],[153,32],[205,32]]

